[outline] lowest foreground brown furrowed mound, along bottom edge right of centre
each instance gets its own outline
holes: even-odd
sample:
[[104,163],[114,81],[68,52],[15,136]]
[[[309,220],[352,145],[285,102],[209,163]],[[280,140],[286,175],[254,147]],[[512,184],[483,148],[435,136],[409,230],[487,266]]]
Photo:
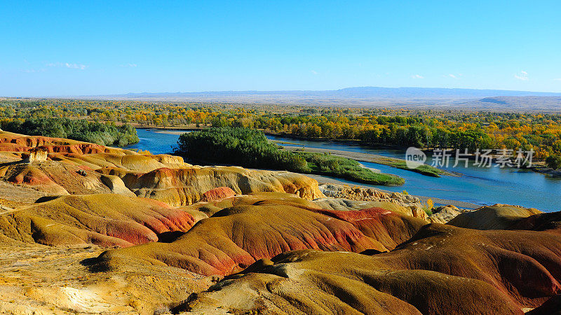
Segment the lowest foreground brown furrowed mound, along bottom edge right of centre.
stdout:
[[374,261],[356,253],[290,252],[260,260],[254,272],[220,281],[177,309],[195,314],[222,314],[221,309],[234,314],[523,314],[484,281],[378,269]]

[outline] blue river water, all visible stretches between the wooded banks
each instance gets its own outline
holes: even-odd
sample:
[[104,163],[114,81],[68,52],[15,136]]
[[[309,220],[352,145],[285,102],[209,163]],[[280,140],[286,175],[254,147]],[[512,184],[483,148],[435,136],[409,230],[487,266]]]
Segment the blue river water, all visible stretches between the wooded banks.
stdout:
[[[172,148],[177,146],[177,139],[179,139],[178,134],[163,134],[154,130],[137,129],[137,133],[140,142],[126,148],[148,150],[154,154],[170,153],[173,151]],[[283,146],[304,146],[405,158],[403,150],[393,148],[371,148],[334,141],[306,141],[273,136],[267,136],[267,138],[292,143],[283,144]],[[373,186],[384,190],[396,192],[407,190],[407,193],[412,195],[438,197],[475,204],[518,204],[542,211],[561,210],[561,179],[524,169],[473,167],[473,165],[464,167],[463,164],[459,167],[452,167],[454,165],[454,159],[452,158],[450,167],[443,167],[443,169],[459,172],[463,176],[436,178],[386,165],[370,162],[361,163],[365,167],[379,169],[384,173],[396,174],[405,179],[403,186]],[[431,163],[430,157],[427,163]]]

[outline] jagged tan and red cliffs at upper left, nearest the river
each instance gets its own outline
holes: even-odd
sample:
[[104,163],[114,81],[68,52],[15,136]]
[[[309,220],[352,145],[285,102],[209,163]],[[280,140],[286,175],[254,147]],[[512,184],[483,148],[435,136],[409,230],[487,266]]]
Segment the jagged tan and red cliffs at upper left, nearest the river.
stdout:
[[[42,195],[134,194],[172,206],[229,197],[227,189],[236,194],[281,192],[309,200],[323,197],[317,181],[301,174],[197,167],[173,155],[140,154],[68,139],[0,132],[0,151],[6,152],[6,160],[15,157],[17,162],[18,156],[21,161],[33,160],[27,167],[13,162],[0,165],[1,179]],[[213,195],[215,188],[222,191]]]

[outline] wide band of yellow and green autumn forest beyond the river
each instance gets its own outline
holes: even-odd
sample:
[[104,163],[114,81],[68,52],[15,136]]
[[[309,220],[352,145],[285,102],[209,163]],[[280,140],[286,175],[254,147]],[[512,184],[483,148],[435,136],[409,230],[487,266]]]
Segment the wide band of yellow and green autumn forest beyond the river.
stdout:
[[247,127],[291,137],[351,139],[372,145],[469,151],[532,149],[534,160],[561,157],[561,115],[554,113],[65,99],[0,102],[0,118],[29,117],[85,118],[158,127]]

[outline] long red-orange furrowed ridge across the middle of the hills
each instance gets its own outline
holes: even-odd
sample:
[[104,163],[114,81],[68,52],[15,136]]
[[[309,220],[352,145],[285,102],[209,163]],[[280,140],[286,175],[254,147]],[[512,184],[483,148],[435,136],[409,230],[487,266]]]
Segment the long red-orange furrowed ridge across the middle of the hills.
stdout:
[[[241,271],[261,258],[298,249],[388,251],[424,225],[419,219],[383,209],[321,211],[271,197],[242,202],[200,221],[170,244],[107,251],[100,262],[119,265],[134,260],[224,275]],[[393,239],[395,236],[398,238]]]

